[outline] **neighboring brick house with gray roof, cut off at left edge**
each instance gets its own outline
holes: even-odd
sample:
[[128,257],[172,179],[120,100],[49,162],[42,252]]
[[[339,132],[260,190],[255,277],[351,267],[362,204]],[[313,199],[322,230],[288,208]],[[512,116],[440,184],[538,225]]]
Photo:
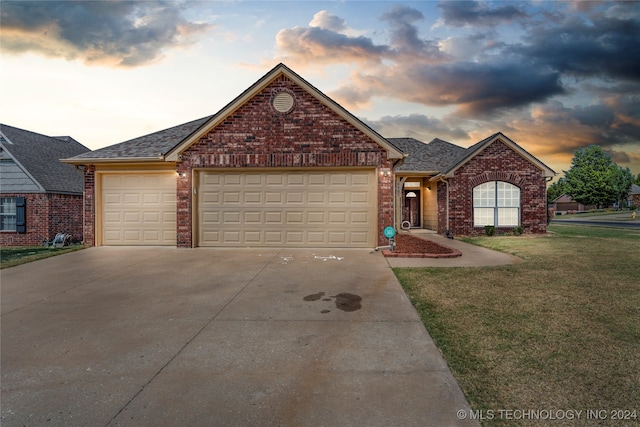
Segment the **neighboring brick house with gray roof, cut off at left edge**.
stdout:
[[0,245],[39,245],[58,233],[82,241],[83,173],[60,162],[89,149],[0,124]]

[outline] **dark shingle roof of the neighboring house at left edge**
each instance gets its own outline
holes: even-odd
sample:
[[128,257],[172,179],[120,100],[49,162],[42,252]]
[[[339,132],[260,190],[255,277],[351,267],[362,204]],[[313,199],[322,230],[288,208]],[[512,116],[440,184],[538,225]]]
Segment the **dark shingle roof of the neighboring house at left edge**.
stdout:
[[41,135],[13,126],[0,124],[6,141],[4,150],[40,184],[46,192],[82,194],[82,172],[60,159],[88,152],[89,149],[75,139]]

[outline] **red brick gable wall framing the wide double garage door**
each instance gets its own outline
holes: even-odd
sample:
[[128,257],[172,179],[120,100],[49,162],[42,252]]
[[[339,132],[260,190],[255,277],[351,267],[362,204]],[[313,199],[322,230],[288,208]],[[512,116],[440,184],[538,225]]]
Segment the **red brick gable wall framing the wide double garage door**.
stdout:
[[[295,107],[286,114],[271,107],[271,98],[286,91]],[[177,171],[178,247],[193,242],[191,169],[193,168],[319,168],[368,166],[378,169],[378,241],[393,222],[393,178],[386,152],[365,134],[282,76],[257,93],[200,141],[187,149]]]

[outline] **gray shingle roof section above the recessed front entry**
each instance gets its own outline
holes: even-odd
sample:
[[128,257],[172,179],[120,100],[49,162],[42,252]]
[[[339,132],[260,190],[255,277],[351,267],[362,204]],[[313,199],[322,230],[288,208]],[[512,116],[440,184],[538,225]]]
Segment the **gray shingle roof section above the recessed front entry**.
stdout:
[[408,154],[399,172],[440,172],[466,152],[466,149],[435,138],[424,143],[414,138],[387,138]]

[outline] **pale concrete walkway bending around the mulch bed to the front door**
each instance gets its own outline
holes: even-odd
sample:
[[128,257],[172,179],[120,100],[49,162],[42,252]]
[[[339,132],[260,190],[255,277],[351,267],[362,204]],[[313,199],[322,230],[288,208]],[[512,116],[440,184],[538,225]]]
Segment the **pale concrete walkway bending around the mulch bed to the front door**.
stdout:
[[522,262],[522,259],[517,256],[472,245],[457,239],[447,239],[433,232],[412,230],[411,234],[457,249],[462,253],[462,256],[455,258],[387,258],[387,262],[391,267],[491,267]]

